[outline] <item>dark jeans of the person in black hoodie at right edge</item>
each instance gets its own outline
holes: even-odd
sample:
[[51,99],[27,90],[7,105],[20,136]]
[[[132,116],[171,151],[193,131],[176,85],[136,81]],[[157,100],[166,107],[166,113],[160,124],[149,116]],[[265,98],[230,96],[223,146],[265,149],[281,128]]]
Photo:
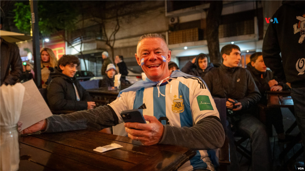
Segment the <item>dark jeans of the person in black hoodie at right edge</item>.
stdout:
[[[302,140],[304,144],[305,143],[305,87],[291,88],[291,97],[293,100],[296,123],[298,124],[300,132],[302,134]],[[305,155],[305,146],[303,146],[303,149]]]

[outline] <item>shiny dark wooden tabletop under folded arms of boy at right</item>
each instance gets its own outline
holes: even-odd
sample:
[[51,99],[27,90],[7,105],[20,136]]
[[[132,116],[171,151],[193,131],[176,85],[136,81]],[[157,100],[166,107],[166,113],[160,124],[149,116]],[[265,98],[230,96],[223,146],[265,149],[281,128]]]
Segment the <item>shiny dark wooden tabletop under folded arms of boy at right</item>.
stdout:
[[267,91],[267,107],[293,107],[290,91]]

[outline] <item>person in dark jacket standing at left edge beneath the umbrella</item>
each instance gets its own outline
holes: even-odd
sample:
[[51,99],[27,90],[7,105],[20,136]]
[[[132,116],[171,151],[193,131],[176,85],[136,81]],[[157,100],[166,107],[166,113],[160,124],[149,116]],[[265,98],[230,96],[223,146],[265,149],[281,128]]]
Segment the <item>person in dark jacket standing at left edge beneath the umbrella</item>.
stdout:
[[[0,29],[2,24],[3,21],[0,17]],[[11,68],[10,73],[9,68]],[[16,44],[11,44],[0,37],[0,86],[2,84],[14,85],[20,79],[22,72],[19,48]]]

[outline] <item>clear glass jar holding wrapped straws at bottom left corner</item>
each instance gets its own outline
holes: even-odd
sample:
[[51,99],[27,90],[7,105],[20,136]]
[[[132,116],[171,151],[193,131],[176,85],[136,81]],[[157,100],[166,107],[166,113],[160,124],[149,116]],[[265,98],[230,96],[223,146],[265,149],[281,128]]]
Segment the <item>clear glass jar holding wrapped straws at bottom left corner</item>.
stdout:
[[0,126],[0,170],[19,169],[19,142],[17,125]]

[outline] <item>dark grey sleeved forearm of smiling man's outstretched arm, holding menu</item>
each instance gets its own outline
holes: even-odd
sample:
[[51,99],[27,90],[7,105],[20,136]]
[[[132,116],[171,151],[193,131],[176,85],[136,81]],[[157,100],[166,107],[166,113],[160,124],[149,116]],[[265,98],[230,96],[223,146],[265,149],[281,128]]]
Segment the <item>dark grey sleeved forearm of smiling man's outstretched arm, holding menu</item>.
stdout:
[[81,129],[99,131],[116,125],[115,116],[108,106],[83,110],[69,114],[53,115],[47,118],[44,132],[62,132]]

